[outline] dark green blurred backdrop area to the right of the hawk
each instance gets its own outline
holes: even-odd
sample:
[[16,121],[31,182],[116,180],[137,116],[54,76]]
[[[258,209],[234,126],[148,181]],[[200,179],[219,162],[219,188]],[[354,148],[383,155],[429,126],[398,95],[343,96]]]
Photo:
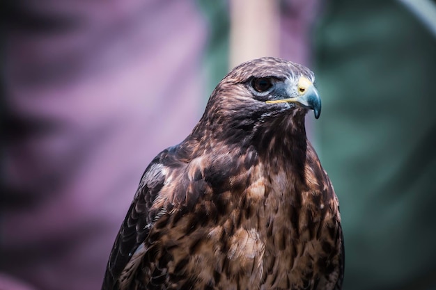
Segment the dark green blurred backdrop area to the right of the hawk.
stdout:
[[436,39],[416,12],[332,1],[314,31],[317,145],[341,202],[345,290],[436,289]]

